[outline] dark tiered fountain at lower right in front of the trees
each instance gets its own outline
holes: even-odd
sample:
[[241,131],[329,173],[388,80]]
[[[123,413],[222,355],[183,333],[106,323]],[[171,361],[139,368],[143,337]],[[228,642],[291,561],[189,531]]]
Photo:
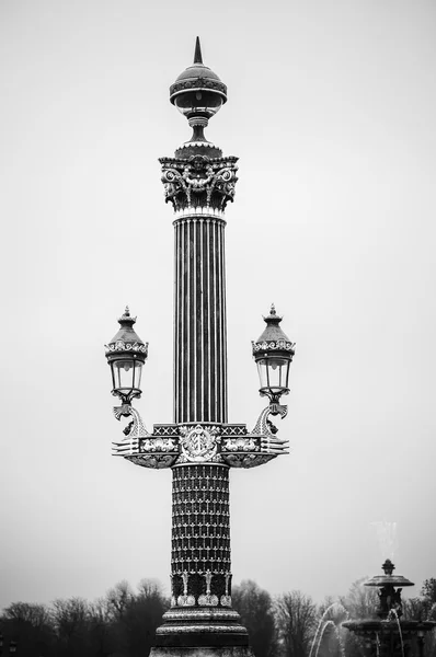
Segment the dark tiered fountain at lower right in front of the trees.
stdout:
[[405,586],[414,584],[402,575],[393,575],[395,566],[389,558],[381,567],[385,575],[377,575],[365,583],[365,586],[379,588],[379,607],[375,614],[377,618],[346,621],[343,626],[364,639],[368,655],[423,657],[425,635],[436,627],[436,622],[401,619],[401,591]]

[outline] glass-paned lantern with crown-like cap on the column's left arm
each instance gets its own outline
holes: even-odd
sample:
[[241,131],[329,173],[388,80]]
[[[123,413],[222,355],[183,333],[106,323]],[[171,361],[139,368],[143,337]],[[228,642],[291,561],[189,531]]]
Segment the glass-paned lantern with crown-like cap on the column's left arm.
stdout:
[[123,404],[140,397],[142,366],[148,356],[148,343],[144,343],[134,330],[136,318],[130,316],[128,307],[119,318],[119,331],[106,346],[106,358],[111,366],[112,394],[119,396]]

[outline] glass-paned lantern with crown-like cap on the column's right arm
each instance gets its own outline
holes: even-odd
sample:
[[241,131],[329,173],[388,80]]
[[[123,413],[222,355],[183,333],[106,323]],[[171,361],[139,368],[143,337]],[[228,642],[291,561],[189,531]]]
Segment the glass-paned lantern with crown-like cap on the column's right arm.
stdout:
[[278,404],[280,396],[289,392],[289,367],[295,355],[295,343],[282,331],[282,318],[277,315],[274,304],[264,321],[265,331],[257,342],[252,343],[253,357],[261,380],[261,395],[267,396],[272,404]]

